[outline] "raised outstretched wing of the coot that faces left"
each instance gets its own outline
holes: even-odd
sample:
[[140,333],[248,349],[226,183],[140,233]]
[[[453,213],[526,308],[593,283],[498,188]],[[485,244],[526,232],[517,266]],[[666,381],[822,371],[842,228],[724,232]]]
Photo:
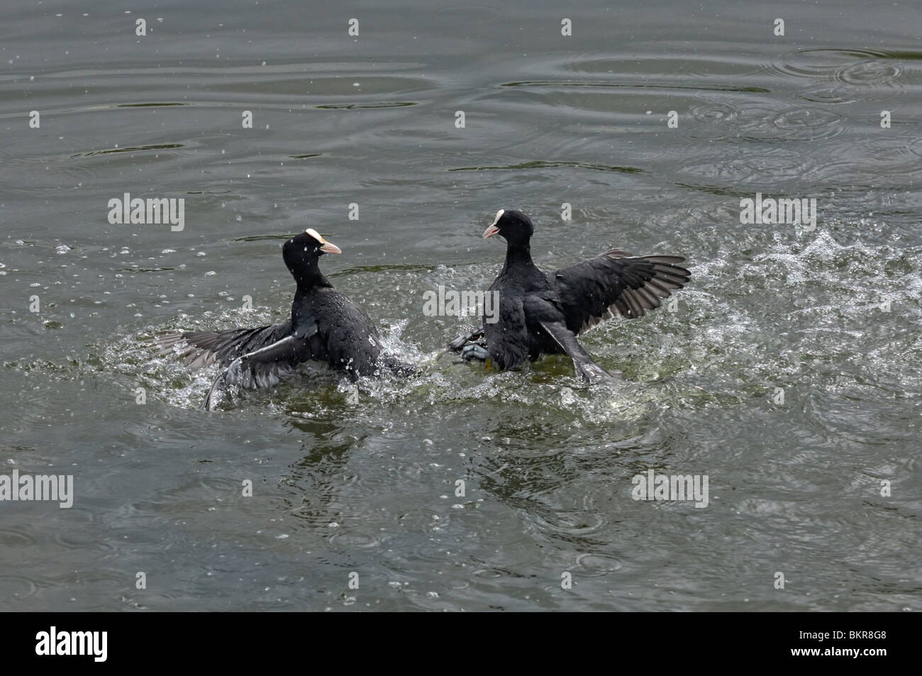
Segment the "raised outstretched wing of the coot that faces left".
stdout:
[[579,335],[615,313],[628,319],[644,316],[691,278],[691,272],[677,265],[684,260],[612,249],[557,270],[551,281],[557,284],[567,328]]

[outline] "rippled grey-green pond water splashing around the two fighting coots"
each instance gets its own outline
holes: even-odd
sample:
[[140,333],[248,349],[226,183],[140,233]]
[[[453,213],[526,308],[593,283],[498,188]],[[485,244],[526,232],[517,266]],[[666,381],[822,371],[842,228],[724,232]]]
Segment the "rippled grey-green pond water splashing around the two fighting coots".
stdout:
[[[6,8],[0,462],[76,496],[0,504],[0,607],[919,608],[913,7],[591,5]],[[111,225],[124,193],[184,197],[183,231]],[[741,225],[756,193],[815,197],[815,230]],[[489,285],[498,208],[542,267],[688,256],[675,313],[586,335],[623,385],[436,361],[467,320],[423,293]],[[305,227],[422,374],[198,411],[214,372],[141,341],[283,318]],[[708,506],[632,500],[651,468]]]

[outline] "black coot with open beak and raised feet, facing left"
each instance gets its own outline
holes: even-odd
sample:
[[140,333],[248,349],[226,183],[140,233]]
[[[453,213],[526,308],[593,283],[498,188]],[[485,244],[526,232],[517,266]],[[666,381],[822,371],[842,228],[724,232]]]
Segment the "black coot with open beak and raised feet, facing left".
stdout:
[[[586,381],[611,378],[586,353],[576,337],[615,314],[641,317],[663,298],[681,289],[691,273],[678,255],[633,256],[619,249],[554,272],[543,272],[531,259],[535,229],[525,214],[497,212],[484,238],[506,240],[506,260],[490,291],[499,293],[499,316],[458,338],[449,350],[465,357],[490,359],[499,369],[517,369],[542,354],[566,353]],[[486,344],[476,343],[483,337]]]

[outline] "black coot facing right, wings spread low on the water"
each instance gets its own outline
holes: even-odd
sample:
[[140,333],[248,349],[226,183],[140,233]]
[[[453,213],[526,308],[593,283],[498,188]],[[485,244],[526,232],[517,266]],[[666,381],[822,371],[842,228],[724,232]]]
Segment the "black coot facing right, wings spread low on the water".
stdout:
[[203,404],[221,382],[247,388],[277,385],[301,362],[326,362],[352,380],[386,368],[411,371],[393,355],[382,354],[372,318],[333,288],[318,266],[324,254],[341,253],[316,231],[307,230],[282,245],[282,257],[298,284],[291,318],[280,324],[226,331],[171,332],[157,338],[161,354],[179,350],[192,368],[218,362],[225,367]]

